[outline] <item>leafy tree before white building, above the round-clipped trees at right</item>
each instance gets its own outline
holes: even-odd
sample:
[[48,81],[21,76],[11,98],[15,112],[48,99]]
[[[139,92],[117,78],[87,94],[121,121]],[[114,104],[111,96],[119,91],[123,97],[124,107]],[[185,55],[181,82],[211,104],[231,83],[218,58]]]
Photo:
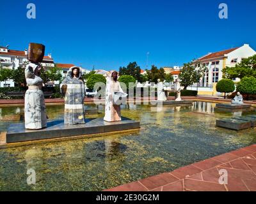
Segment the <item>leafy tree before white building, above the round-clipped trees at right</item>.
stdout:
[[256,55],[243,59],[234,67],[223,68],[223,78],[256,77]]

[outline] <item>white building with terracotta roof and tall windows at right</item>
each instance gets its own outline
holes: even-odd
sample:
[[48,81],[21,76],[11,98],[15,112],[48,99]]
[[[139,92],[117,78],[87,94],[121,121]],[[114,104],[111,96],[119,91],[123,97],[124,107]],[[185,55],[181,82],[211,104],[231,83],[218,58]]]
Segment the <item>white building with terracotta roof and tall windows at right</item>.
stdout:
[[[200,57],[198,61],[207,69],[204,77],[200,80],[201,87],[211,87],[212,84],[222,79],[222,69],[227,66],[232,67],[241,62],[242,59],[255,55],[256,52],[248,44],[241,47],[231,48],[220,52],[209,53]],[[234,78],[234,81],[239,81]]]

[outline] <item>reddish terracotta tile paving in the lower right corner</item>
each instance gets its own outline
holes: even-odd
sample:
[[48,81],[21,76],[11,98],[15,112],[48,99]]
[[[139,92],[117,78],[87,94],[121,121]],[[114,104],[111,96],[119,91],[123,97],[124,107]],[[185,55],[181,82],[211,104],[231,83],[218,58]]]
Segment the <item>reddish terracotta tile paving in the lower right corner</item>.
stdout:
[[105,191],[256,191],[256,144]]

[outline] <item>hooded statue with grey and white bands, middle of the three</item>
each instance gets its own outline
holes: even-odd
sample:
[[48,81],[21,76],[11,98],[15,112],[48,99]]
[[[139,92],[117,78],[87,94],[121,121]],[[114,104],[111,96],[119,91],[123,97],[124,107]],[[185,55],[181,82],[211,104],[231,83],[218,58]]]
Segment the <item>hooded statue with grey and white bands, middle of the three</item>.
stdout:
[[61,94],[65,99],[64,124],[84,124],[85,89],[82,69],[73,66],[61,82]]

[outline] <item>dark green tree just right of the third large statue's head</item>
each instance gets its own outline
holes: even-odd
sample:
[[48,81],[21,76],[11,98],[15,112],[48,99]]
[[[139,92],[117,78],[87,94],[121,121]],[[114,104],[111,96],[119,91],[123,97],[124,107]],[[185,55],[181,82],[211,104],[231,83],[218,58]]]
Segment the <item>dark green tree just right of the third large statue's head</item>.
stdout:
[[119,75],[130,75],[134,77],[138,82],[141,82],[141,69],[137,62],[130,62],[127,67],[119,68]]

